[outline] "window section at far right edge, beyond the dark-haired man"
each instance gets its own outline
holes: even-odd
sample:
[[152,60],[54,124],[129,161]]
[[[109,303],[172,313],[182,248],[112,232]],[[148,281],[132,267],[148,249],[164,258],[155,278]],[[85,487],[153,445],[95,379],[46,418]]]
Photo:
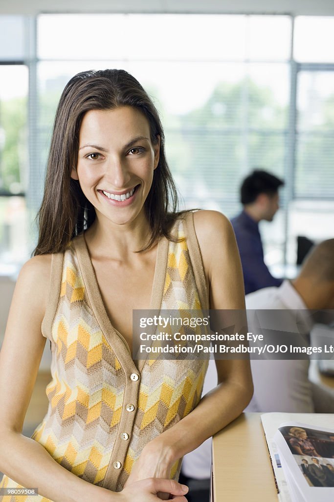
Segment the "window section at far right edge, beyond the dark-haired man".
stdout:
[[[311,34],[311,36],[310,36]],[[296,120],[293,197],[289,203],[287,259],[296,237],[317,242],[334,228],[334,18],[295,20]]]

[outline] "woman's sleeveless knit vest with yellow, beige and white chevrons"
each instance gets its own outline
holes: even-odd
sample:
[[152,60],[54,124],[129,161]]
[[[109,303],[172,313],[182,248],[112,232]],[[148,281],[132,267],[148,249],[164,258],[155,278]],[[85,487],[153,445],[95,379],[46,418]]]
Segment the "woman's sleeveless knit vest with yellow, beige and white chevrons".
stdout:
[[[162,238],[153,309],[208,309],[193,213]],[[206,360],[135,361],[103,305],[83,235],[53,255],[51,297],[42,324],[51,341],[49,409],[33,434],[63,467],[90,483],[122,490],[143,447],[198,404]],[[172,471],[178,477],[180,462]],[[1,487],[20,487],[4,476]],[[14,496],[0,500],[15,502]],[[20,496],[20,502],[49,502]]]

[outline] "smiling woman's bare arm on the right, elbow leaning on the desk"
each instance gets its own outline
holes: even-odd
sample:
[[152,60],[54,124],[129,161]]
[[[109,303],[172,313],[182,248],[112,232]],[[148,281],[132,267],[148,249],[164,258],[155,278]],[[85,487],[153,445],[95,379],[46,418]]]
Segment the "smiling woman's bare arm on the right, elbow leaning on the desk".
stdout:
[[[210,289],[210,309],[245,308],[239,253],[229,221],[215,211],[194,214]],[[171,466],[234,420],[252,396],[248,360],[216,360],[218,386],[180,422],[144,448],[130,479],[169,476]]]

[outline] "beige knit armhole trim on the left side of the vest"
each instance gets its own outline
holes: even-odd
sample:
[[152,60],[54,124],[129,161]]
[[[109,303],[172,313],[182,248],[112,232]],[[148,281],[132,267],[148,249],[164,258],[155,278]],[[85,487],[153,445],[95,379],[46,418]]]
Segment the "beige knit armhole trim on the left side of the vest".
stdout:
[[62,287],[64,253],[57,253],[51,257],[50,291],[47,310],[42,321],[42,335],[49,340],[52,338],[52,325],[60,302]]

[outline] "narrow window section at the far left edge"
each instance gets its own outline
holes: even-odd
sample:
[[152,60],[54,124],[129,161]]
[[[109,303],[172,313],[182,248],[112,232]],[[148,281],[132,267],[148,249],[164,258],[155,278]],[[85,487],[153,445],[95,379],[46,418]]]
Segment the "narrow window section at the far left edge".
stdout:
[[[0,274],[27,259],[28,67],[24,18],[0,17]],[[6,42],[6,43],[5,43]]]

